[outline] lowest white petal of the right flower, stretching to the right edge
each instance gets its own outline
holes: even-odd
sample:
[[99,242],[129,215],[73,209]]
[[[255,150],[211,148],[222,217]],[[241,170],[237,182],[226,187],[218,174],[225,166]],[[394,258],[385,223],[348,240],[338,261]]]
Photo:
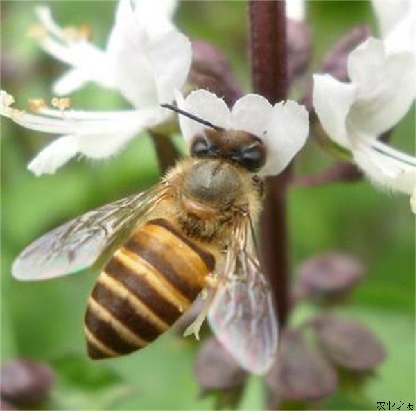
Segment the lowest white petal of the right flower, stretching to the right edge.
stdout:
[[[379,144],[383,143],[379,142]],[[377,186],[414,195],[416,159],[412,157],[410,162],[403,161],[401,152],[395,155],[395,150],[385,147],[389,152],[388,155],[363,144],[353,150],[354,161]]]

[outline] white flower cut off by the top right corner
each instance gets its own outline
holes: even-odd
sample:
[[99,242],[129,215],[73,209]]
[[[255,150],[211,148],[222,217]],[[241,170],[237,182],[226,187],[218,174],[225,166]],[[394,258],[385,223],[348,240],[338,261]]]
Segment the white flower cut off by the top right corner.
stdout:
[[372,5],[388,53],[404,50],[415,53],[416,2],[373,0]]

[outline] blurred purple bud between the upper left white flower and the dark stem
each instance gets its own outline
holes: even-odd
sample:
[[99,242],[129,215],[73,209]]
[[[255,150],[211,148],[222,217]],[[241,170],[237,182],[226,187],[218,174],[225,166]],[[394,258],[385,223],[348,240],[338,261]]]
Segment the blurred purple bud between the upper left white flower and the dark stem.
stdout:
[[224,53],[216,46],[200,40],[193,40],[192,50],[189,81],[198,88],[224,98],[227,105],[233,105],[242,92]]

